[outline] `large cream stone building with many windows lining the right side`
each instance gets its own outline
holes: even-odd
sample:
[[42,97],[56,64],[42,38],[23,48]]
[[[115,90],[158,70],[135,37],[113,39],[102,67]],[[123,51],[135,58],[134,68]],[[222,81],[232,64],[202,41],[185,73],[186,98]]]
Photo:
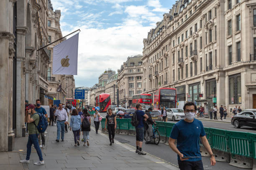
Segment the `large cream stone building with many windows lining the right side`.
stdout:
[[146,93],[176,87],[177,101],[225,105],[229,115],[256,108],[255,2],[177,1],[143,40]]

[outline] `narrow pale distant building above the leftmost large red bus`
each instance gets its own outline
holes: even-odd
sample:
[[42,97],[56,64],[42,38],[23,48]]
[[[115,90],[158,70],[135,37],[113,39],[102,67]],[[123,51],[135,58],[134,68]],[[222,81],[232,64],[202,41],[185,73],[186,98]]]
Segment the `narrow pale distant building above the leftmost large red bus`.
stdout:
[[118,74],[113,75],[105,85],[105,93],[110,94],[111,105],[117,105],[117,79]]

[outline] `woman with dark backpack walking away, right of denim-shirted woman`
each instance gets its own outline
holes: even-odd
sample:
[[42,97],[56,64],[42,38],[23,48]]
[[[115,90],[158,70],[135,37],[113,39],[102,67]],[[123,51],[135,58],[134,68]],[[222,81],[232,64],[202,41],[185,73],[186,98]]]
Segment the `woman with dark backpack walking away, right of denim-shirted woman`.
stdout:
[[84,146],[87,143],[89,146],[89,139],[90,139],[90,131],[91,131],[91,116],[87,109],[83,110],[83,114],[81,115],[82,120],[82,131],[84,137]]

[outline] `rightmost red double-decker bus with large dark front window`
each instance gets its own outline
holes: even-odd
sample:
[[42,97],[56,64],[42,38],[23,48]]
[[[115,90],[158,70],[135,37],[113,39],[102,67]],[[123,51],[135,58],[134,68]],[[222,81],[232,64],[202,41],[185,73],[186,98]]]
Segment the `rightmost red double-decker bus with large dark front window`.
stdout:
[[176,103],[176,88],[163,87],[154,91],[154,110],[159,110],[160,107],[176,108]]

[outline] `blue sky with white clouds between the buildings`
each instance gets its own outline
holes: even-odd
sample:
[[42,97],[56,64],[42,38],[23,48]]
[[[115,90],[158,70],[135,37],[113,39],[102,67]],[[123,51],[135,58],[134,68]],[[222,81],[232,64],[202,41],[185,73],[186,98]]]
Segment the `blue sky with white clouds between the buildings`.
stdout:
[[92,87],[109,68],[128,56],[142,55],[143,38],[175,3],[174,0],[51,0],[61,10],[65,36],[80,29],[76,87]]

